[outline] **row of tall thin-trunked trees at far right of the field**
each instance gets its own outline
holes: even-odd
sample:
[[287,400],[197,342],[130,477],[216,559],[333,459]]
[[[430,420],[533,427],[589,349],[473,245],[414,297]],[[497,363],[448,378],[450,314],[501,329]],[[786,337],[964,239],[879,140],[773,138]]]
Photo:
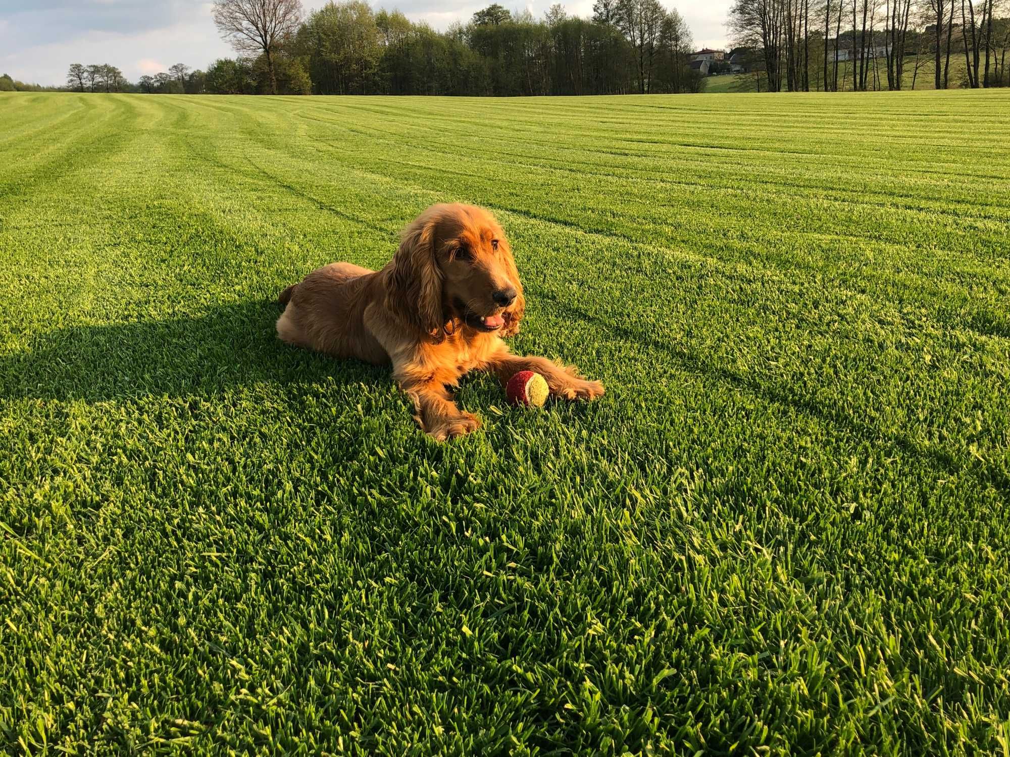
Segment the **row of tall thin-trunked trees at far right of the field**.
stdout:
[[[997,16],[1001,2],[734,0],[728,26],[772,92],[901,90],[930,64],[936,89],[1005,87],[1010,18]],[[958,55],[964,81],[951,81]]]

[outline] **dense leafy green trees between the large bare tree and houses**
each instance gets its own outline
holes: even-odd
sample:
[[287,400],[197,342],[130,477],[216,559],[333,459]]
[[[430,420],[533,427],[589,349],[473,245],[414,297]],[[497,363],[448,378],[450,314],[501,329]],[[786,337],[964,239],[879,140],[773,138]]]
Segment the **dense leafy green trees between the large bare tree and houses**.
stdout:
[[697,92],[691,31],[658,0],[600,0],[594,18],[494,4],[439,33],[364,2],[313,12],[288,49],[316,94],[598,95]]

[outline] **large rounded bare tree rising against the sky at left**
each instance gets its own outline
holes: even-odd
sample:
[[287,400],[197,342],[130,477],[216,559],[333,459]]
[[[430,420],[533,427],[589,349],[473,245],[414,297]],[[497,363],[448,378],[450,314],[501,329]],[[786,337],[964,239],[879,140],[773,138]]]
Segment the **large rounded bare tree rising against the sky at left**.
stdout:
[[270,89],[277,94],[274,55],[280,42],[294,36],[302,19],[300,0],[214,0],[214,23],[222,39],[239,52],[267,57]]

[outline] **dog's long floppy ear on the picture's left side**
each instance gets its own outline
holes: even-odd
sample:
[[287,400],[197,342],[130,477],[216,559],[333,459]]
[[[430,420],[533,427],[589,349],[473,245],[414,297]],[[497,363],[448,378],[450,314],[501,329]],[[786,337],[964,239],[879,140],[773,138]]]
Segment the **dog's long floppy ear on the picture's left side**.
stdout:
[[418,218],[403,232],[393,256],[387,307],[420,331],[440,335],[443,323],[441,271],[435,262],[435,222]]

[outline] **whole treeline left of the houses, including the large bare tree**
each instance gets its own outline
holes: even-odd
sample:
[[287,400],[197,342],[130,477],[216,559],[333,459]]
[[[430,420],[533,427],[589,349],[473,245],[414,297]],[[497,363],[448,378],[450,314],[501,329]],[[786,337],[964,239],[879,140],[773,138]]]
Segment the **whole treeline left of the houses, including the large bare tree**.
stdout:
[[[292,0],[286,0],[291,10]],[[262,8],[257,6],[263,5]],[[362,0],[329,2],[301,18],[270,19],[275,0],[218,0],[215,20],[245,55],[206,71],[177,64],[137,85],[94,89],[75,64],[68,88],[152,94],[596,95],[698,92],[691,31],[659,0],[598,0],[592,19],[553,5],[541,19],[499,4],[438,32]],[[282,8],[284,9],[284,8]],[[230,13],[230,15],[228,15]],[[239,24],[266,18],[264,29]],[[236,19],[238,19],[236,21]],[[271,38],[268,31],[288,31]],[[238,31],[236,31],[238,29]],[[240,32],[240,33],[239,33]],[[248,33],[246,33],[248,32]],[[250,44],[249,38],[263,40]],[[106,80],[99,80],[99,87]]]

